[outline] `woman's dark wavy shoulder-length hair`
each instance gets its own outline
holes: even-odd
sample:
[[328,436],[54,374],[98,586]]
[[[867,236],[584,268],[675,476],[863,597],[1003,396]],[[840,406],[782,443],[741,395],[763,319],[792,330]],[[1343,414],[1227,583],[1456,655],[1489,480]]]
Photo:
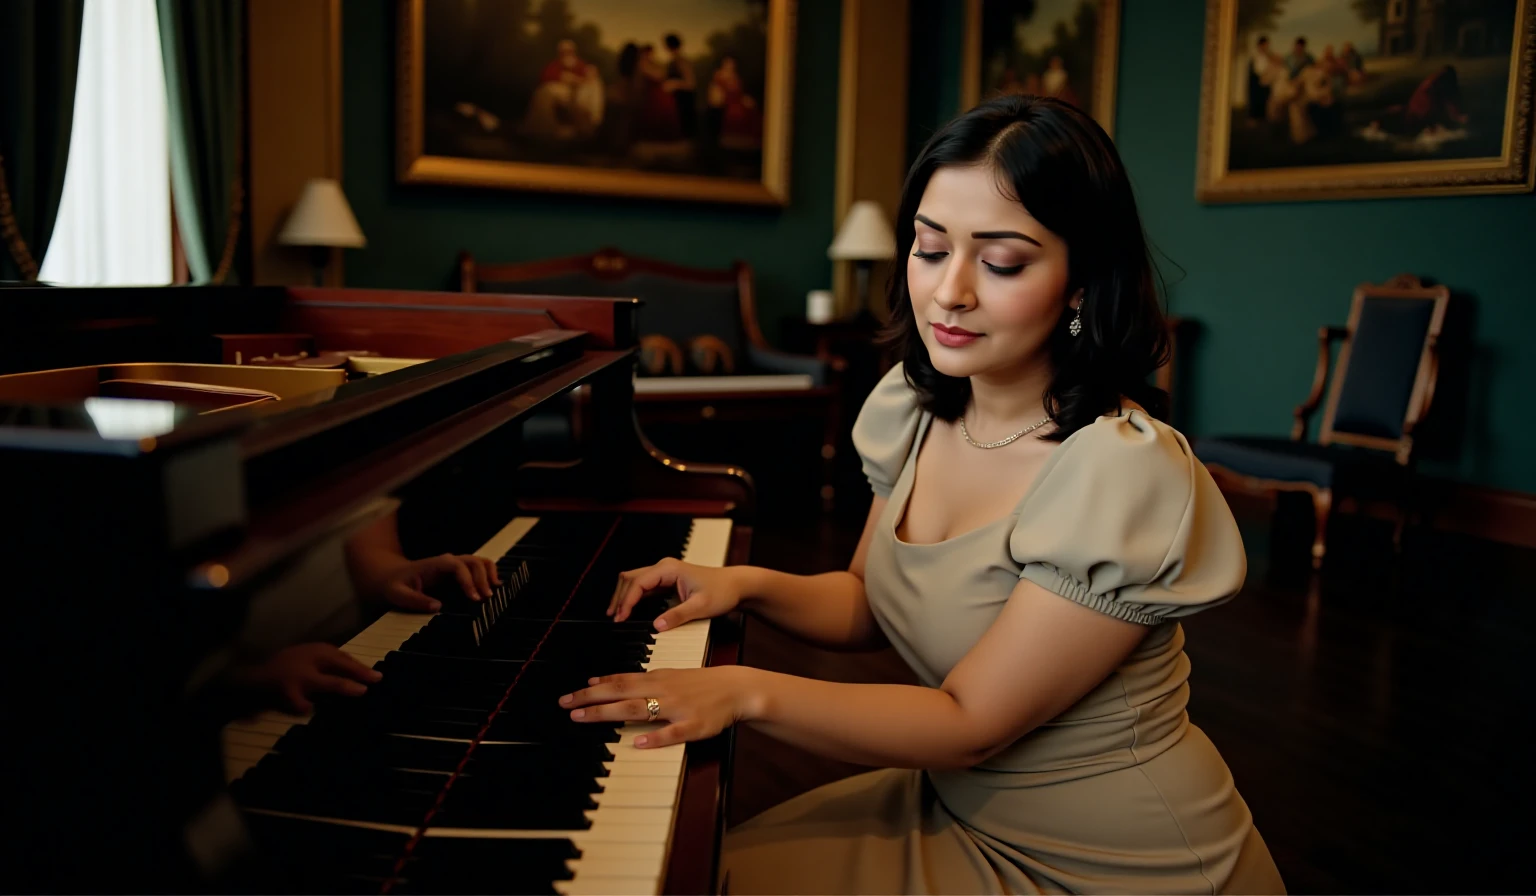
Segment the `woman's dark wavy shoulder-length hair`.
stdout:
[[906,286],[919,201],[934,172],[949,166],[991,168],[1005,195],[1066,241],[1066,295],[1083,290],[1081,334],[1068,332],[1069,312],[1051,332],[1044,407],[1057,429],[1041,438],[1061,441],[1117,410],[1121,398],[1166,420],[1167,393],[1149,377],[1167,358],[1167,324],[1130,180],[1104,129],[1048,97],[982,103],[934,134],[906,174],[895,217],[900,264],[891,277],[882,341],[905,361],[922,407],[955,420],[971,400],[971,380],[940,373],[928,357]]

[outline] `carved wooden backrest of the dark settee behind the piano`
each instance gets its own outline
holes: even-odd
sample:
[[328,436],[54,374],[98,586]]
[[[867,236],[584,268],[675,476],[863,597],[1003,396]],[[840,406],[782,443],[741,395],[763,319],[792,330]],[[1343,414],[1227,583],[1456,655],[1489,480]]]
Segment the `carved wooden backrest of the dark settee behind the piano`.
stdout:
[[723,269],[685,267],[604,247],[591,255],[482,264],[461,252],[459,289],[639,298],[642,344],[665,337],[688,352],[700,337],[714,337],[737,370],[746,364],[750,344],[766,347],[757,326],[753,270],[745,261]]

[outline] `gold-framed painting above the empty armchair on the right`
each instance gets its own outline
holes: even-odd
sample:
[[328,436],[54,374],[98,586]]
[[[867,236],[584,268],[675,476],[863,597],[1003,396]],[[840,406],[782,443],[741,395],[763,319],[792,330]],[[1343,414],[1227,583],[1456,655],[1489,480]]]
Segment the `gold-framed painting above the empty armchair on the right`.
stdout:
[[1527,192],[1536,0],[1207,0],[1195,195]]

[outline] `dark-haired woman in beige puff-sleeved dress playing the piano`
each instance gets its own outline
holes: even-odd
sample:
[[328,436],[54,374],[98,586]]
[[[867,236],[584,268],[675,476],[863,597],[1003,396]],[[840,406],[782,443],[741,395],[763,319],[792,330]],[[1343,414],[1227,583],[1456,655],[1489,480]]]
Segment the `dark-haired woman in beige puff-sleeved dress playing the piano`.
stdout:
[[[730,893],[1278,893],[1220,753],[1189,722],[1178,619],[1235,595],[1232,515],[1146,378],[1166,350],[1114,144],[1000,97],[929,140],[897,217],[903,364],[854,426],[876,498],[846,572],[676,559],[625,573],[624,619],[743,609],[814,644],[895,647],[925,687],[746,667],[593,679],[581,721],[742,722],[889,767],[733,830]],[[637,741],[639,742],[639,741]]]

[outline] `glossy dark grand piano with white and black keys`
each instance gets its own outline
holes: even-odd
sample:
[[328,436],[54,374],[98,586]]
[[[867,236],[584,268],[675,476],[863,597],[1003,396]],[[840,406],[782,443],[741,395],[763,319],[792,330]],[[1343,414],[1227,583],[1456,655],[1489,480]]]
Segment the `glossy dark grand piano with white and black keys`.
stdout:
[[[736,661],[733,619],[604,616],[617,572],[745,562],[753,489],[634,424],[627,300],[6,289],[6,865],[46,891],[702,893],[730,735],[578,725],[591,675]],[[533,423],[570,423],[550,455]],[[438,613],[347,543],[478,553]],[[645,607],[647,604],[642,604]],[[382,672],[307,716],[230,669],[330,641]]]

